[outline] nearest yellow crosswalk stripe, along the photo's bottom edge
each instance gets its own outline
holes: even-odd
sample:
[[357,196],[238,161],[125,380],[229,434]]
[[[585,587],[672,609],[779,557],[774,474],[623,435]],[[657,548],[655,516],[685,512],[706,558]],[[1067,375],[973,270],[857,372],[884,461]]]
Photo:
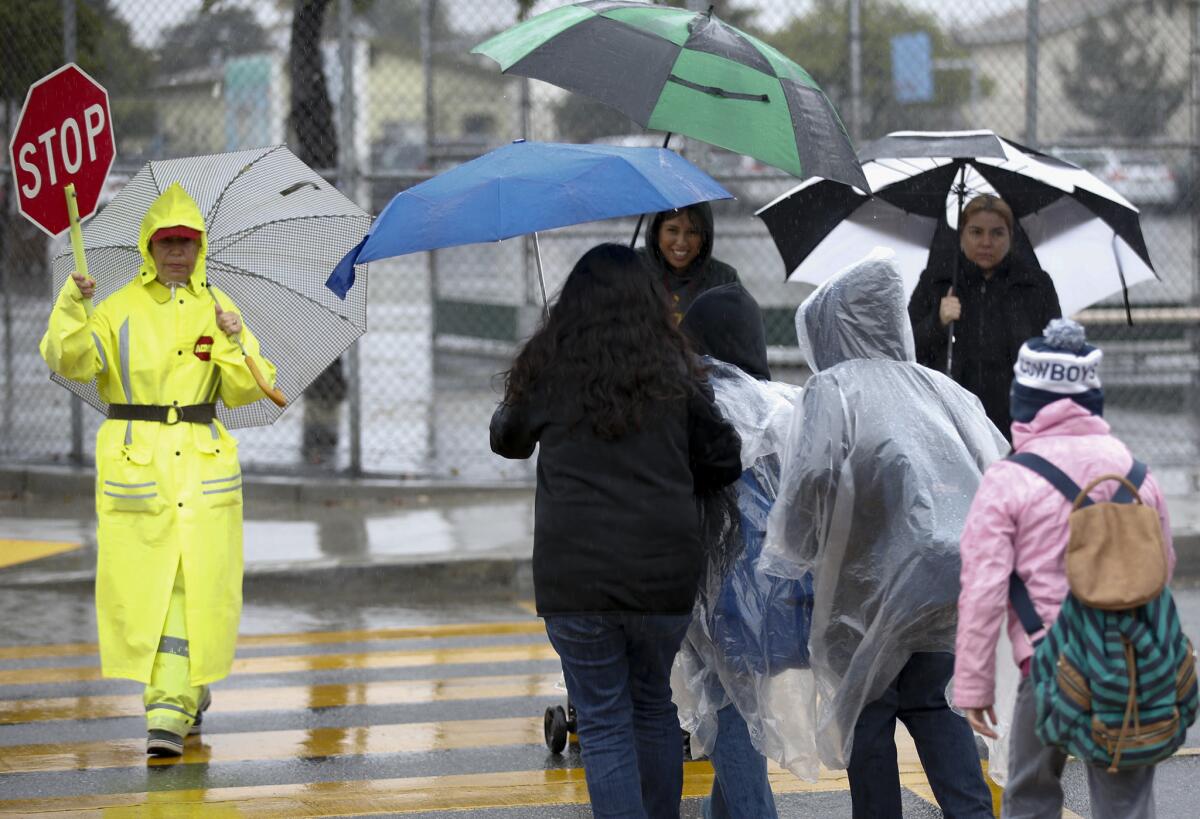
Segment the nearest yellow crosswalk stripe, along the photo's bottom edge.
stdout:
[[[923,775],[901,769],[901,784],[917,785]],[[776,794],[827,793],[846,789],[845,771],[823,771],[816,783],[774,770]],[[713,767],[707,761],[684,764],[684,797],[708,794]],[[0,802],[0,815],[78,817],[79,811],[132,815],[138,807],[170,806],[172,815],[220,811],[239,817],[349,817],[426,811],[583,805],[588,801],[582,769],[504,771],[358,782],[314,782],[292,785],[252,785],[145,794],[100,794]],[[125,814],[121,808],[130,809]],[[109,813],[112,812],[112,813]]]

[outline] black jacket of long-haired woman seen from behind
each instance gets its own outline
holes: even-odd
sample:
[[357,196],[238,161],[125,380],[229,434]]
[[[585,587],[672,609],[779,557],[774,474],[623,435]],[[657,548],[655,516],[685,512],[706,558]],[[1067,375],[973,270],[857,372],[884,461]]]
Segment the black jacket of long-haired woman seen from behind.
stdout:
[[533,396],[492,416],[492,452],[538,454],[533,580],[539,615],[690,614],[704,556],[695,491],[742,472],[710,394],[664,402],[618,441]]

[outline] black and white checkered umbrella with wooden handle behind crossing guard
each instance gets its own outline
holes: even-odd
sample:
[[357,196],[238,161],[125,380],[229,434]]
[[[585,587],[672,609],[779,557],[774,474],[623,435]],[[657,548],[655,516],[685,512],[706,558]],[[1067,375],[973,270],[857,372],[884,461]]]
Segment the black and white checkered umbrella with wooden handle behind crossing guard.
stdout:
[[[209,281],[236,303],[278,370],[276,385],[299,396],[366,333],[366,265],[355,270],[344,300],[325,288],[325,279],[362,239],[371,217],[283,145],[149,162],[83,228],[97,301],[137,275],[142,219],[173,183],[204,214]],[[70,250],[54,259],[55,292],[73,269]],[[108,412],[95,382],[53,378]],[[270,401],[217,405],[230,429],[264,426],[282,412]]]

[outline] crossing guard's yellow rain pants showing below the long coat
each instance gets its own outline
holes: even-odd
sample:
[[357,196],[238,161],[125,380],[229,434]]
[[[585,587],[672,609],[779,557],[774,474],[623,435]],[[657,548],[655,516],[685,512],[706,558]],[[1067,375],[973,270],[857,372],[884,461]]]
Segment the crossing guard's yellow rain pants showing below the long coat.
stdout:
[[150,670],[150,683],[142,698],[146,706],[146,730],[170,731],[179,736],[187,736],[206,693],[205,686],[191,683],[185,596],[184,573],[178,572],[170,590],[167,621],[158,639],[158,653]]

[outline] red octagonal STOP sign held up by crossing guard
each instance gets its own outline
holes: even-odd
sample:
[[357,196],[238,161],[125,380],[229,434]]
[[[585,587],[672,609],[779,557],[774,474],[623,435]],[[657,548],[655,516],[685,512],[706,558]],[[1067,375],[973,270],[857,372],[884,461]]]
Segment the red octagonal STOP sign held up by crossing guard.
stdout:
[[29,86],[8,149],[20,213],[56,237],[70,227],[62,189],[74,184],[85,219],[113,167],[108,91],[74,62],[42,77]]

